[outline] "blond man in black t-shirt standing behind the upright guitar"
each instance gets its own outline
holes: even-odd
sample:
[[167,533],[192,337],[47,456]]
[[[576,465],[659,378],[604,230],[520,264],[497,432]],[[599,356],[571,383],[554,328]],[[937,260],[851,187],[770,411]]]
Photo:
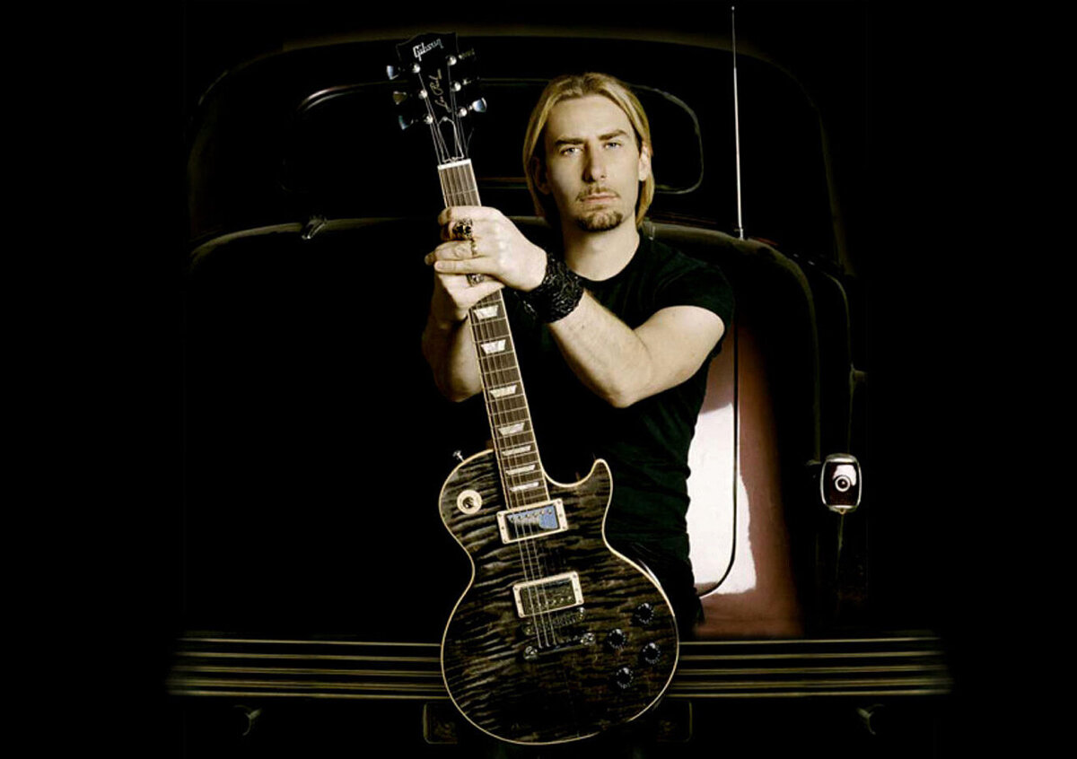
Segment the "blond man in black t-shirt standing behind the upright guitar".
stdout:
[[480,392],[468,309],[506,289],[544,468],[569,481],[606,460],[606,537],[656,575],[690,637],[700,605],[688,446],[732,295],[717,269],[640,235],[653,155],[646,114],[624,83],[600,73],[550,82],[531,114],[523,169],[559,239],[544,250],[495,209],[444,210],[445,241],[426,256],[435,277],[423,354],[447,397]]

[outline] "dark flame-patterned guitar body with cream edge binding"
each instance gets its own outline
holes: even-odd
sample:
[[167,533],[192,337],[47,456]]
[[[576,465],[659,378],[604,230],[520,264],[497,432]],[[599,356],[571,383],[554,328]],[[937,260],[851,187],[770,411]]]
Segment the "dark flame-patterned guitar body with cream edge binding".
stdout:
[[[460,464],[440,496],[442,519],[473,564],[445,629],[445,685],[472,723],[515,743],[573,741],[639,717],[677,660],[666,595],[605,542],[605,462],[574,484],[546,481],[564,529],[508,543],[492,451]],[[544,579],[565,576],[578,578],[575,591],[568,579]],[[542,603],[563,607],[528,614]]]

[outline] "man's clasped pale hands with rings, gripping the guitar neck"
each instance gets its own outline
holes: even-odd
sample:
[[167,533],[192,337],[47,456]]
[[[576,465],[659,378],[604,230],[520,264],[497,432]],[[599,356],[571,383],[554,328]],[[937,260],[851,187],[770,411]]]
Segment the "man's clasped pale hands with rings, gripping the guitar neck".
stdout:
[[[470,239],[461,239],[454,234],[458,222],[471,227]],[[490,282],[472,285],[461,275],[478,273],[493,278],[500,286],[531,291],[542,283],[546,273],[546,252],[528,240],[501,211],[484,206],[456,206],[447,208],[437,217],[442,226],[442,239],[446,240],[430,253],[425,261],[434,266],[442,289],[451,297],[459,309],[465,303],[477,300],[496,290]],[[454,276],[456,282],[447,276]],[[463,287],[481,291],[462,292]],[[464,314],[467,308],[463,308]]]

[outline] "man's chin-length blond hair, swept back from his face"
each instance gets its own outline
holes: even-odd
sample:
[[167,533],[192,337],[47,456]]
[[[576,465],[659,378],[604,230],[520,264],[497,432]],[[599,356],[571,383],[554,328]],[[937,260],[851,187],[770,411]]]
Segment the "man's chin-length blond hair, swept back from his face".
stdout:
[[[528,189],[535,203],[535,213],[545,216],[550,223],[559,223],[557,205],[551,195],[538,192],[534,181],[535,164],[541,164],[546,158],[545,145],[541,144],[543,131],[546,129],[546,123],[549,121],[549,114],[555,106],[562,100],[582,98],[587,95],[601,95],[610,98],[628,116],[628,121],[635,130],[635,146],[640,153],[642,154],[643,150],[646,149],[648,155],[654,155],[647,114],[643,112],[640,100],[624,82],[610,74],[595,72],[565,74],[553,80],[546,85],[538,102],[531,112],[528,131],[523,137],[523,175],[528,181]],[[648,171],[647,178],[640,185],[640,195],[635,201],[635,226],[643,223],[643,216],[655,197],[654,174]]]

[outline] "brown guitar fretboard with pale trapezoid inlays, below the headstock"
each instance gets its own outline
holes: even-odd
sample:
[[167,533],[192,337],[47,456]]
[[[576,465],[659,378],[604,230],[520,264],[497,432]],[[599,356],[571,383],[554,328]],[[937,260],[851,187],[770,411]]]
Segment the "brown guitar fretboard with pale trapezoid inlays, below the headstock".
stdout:
[[[437,173],[447,207],[481,205],[470,159],[443,164]],[[505,500],[509,508],[549,501],[503,291],[476,303],[468,321]]]

